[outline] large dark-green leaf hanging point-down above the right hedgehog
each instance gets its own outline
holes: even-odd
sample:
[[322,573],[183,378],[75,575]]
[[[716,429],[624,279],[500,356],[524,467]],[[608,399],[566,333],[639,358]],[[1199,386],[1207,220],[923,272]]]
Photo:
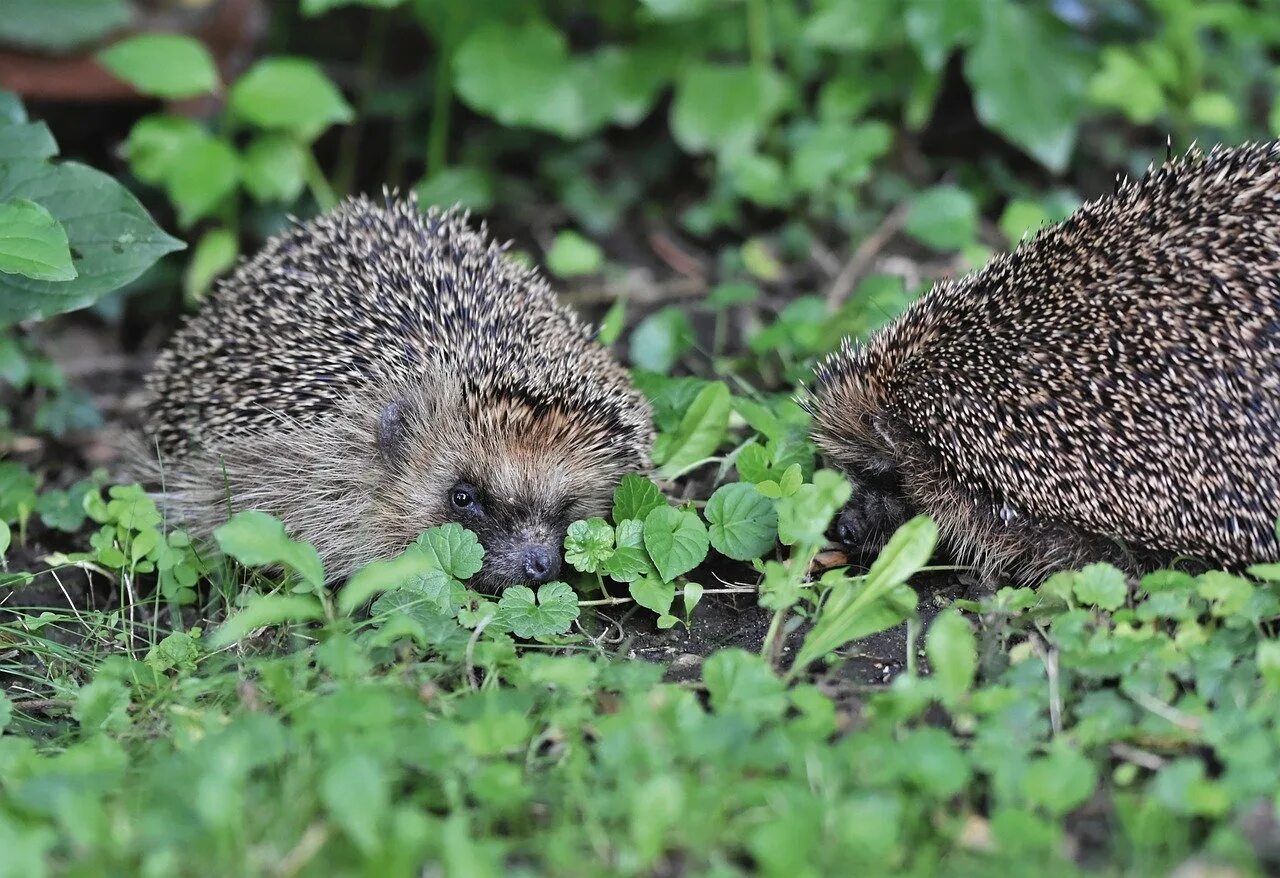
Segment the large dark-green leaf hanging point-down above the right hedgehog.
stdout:
[[978,118],[1061,173],[1075,146],[1088,60],[1039,6],[992,4],[983,20],[965,55]]

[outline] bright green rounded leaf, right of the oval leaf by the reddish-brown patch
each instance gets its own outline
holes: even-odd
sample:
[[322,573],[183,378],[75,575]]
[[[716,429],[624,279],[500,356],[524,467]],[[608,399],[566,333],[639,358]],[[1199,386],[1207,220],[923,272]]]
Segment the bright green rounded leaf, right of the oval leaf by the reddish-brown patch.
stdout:
[[229,106],[259,128],[288,131],[307,143],[355,118],[342,92],[305,58],[264,58],[232,86]]

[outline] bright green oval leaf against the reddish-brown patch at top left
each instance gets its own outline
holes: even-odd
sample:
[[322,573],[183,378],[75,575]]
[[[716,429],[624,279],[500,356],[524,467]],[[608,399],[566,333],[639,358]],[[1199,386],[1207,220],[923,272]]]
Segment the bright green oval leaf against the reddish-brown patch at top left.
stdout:
[[100,51],[97,60],[143,95],[195,97],[219,86],[205,44],[178,33],[140,33]]

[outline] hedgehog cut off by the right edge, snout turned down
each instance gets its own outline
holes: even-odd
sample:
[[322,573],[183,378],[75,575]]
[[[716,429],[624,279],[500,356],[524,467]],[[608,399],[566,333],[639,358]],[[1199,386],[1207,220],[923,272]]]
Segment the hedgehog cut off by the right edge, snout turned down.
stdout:
[[1280,146],[1117,178],[846,339],[806,402],[855,553],[927,513],[988,585],[1280,559]]

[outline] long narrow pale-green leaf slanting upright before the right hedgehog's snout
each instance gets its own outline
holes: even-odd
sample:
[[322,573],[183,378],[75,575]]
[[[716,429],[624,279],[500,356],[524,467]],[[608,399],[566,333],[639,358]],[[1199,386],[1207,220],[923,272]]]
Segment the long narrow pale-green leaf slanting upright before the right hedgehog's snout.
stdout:
[[899,527],[863,577],[861,586],[827,599],[791,664],[791,676],[854,637],[864,636],[861,617],[865,612],[929,563],[937,541],[938,527],[928,516],[916,516]]

